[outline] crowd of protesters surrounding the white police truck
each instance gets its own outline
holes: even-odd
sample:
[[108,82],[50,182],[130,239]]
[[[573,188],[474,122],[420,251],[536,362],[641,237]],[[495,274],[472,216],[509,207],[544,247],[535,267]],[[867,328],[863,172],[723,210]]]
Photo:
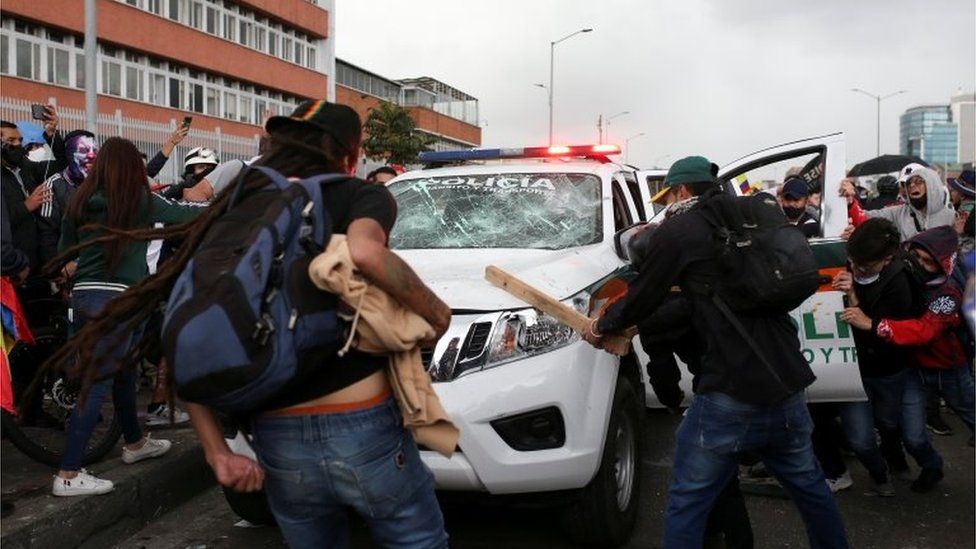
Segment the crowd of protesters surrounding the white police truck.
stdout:
[[[218,481],[241,491],[264,487],[290,545],[347,543],[348,506],[366,518],[381,544],[445,546],[431,474],[391,397],[385,359],[356,350],[331,359],[301,391],[254,418],[258,462],[230,452],[208,408],[187,403],[187,413],[167,398],[166,360],[158,351],[166,295],[159,290],[183,272],[232,190],[247,194],[267,184],[250,166],[294,178],[347,174],[323,186],[324,204],[316,207],[333,232],[346,235],[362,275],[427,322],[433,340],[443,334],[450,309],[386,247],[397,212],[382,183],[397,172],[381,167],[365,181],[354,177],[362,141],[358,115],[325,101],[303,103],[291,116],[267,121],[254,158],[221,163],[214,151],[196,147],[183,159],[182,180],[168,186],[152,178],[186,139],[186,126],[147,161],[119,137],[101,145],[84,130],[62,137],[58,121],[48,106],[42,128],[0,122],[3,274],[16,285],[29,322],[44,315],[31,310],[38,294],[64,292],[74,336],[51,364],[76,359],[86,380],[83,405],[68,419],[52,493],[113,489],[111,481],[81,468],[109,391],[123,426],[125,463],[169,450],[168,441],[143,433],[136,411],[132,365],[150,361],[158,372],[150,420],[192,420]],[[929,492],[943,479],[943,460],[926,428],[928,422],[938,432],[931,426],[943,401],[973,444],[973,334],[962,314],[967,271],[960,265],[965,258],[971,284],[973,171],[943,182],[934,170],[909,164],[898,177],[879,179],[871,201],[862,201],[853,181],[841,183],[851,222],[844,233],[849,262],[832,287],[844,295],[841,318],[853,328],[867,400],[816,405],[804,398],[814,375],[786,312],[732,318],[719,300],[699,291],[717,273],[706,213],[726,195],[716,175],[717,167],[700,156],[672,165],[654,199],[667,203],[666,219],[632,245],[637,277],[593,320],[584,339],[601,347],[608,334],[638,326],[652,387],[669,408],[678,409],[684,399],[675,354],[694,376],[695,396],[676,436],[665,547],[700,546],[713,534],[724,535],[729,546],[751,547],[738,471],[759,460],[793,497],[811,546],[846,547],[832,496],[852,486],[843,450],[869,473],[866,493],[891,497],[892,479],[910,472],[905,452],[918,467],[912,490]],[[822,233],[821,192],[797,174],[777,192],[782,215],[807,238]],[[762,344],[742,344],[749,333],[765,334]],[[26,387],[16,372],[14,381]],[[24,422],[52,421],[39,409],[20,413]],[[322,460],[335,466],[323,470]]]

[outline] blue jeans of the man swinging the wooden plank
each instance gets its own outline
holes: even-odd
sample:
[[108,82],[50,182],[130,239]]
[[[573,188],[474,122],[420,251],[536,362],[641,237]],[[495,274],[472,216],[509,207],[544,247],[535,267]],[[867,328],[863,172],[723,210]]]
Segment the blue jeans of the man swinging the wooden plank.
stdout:
[[759,453],[796,502],[810,546],[848,547],[837,504],[813,455],[803,394],[758,406],[721,393],[695,395],[676,433],[664,518],[665,549],[702,546],[716,496],[736,474],[740,452]]

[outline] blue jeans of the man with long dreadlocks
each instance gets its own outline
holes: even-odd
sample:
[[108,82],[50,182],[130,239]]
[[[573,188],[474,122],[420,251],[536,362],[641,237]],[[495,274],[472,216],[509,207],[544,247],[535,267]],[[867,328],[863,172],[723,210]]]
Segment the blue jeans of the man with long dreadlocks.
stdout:
[[260,416],[254,449],[292,549],[348,547],[346,507],[382,547],[447,547],[434,476],[392,399],[353,412]]

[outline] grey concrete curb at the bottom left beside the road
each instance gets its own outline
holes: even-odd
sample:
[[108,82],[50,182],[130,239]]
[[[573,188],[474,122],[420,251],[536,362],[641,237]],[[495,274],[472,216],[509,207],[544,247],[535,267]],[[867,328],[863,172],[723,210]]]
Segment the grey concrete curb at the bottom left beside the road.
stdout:
[[192,431],[171,432],[172,449],[160,459],[125,465],[113,459],[96,466],[115,483],[101,496],[55,497],[39,490],[16,502],[3,521],[4,549],[108,547],[139,531],[215,484]]

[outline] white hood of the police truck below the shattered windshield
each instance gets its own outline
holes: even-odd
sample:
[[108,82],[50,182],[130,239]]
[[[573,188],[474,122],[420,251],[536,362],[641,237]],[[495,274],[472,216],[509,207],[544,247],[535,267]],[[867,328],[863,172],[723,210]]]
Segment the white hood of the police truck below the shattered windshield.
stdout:
[[623,262],[610,246],[569,250],[462,249],[395,250],[451,309],[497,311],[526,304],[485,280],[485,267],[505,272],[565,299],[609,274]]

